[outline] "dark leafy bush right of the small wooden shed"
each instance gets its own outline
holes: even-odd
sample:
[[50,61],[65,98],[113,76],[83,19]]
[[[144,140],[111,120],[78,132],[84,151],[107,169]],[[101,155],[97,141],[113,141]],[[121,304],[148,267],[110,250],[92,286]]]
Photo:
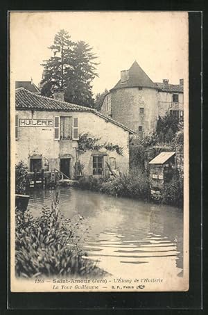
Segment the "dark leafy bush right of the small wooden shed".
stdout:
[[183,206],[184,200],[183,180],[178,174],[166,185],[162,193],[162,203],[176,207]]

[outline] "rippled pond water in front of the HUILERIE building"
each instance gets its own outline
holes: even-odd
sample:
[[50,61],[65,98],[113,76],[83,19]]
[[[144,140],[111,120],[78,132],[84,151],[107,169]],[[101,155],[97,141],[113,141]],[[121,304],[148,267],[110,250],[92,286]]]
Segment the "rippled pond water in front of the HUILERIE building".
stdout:
[[182,276],[181,209],[62,187],[33,191],[28,208],[34,216],[40,215],[43,205],[51,206],[57,191],[64,216],[74,222],[81,218],[80,243],[99,267],[118,277],[123,273],[137,277],[141,272],[159,277],[161,270],[163,275]]

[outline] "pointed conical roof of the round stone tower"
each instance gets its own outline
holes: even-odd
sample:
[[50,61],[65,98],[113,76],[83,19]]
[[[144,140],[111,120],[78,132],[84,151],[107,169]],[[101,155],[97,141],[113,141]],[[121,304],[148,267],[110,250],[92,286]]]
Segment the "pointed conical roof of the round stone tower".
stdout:
[[118,83],[112,88],[115,90],[117,88],[155,88],[155,83],[148,77],[148,75],[141,69],[137,61],[135,61],[130,69],[128,70],[129,78],[125,83],[121,83],[119,80]]

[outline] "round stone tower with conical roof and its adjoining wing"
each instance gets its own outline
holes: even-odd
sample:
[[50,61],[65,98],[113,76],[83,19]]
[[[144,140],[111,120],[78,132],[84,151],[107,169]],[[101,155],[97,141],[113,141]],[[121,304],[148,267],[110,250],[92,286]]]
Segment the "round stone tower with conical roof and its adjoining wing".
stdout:
[[183,116],[183,83],[183,79],[179,84],[168,79],[154,83],[135,61],[105,95],[101,113],[146,136],[155,130],[159,116]]

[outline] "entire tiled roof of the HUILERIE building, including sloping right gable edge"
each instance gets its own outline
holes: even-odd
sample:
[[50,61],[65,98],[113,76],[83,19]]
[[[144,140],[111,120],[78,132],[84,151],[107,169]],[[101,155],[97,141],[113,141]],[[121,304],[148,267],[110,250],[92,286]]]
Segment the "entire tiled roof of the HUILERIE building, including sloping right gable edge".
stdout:
[[100,112],[96,111],[94,108],[89,108],[85,106],[80,106],[76,104],[71,104],[67,102],[59,101],[58,99],[52,99],[50,97],[44,97],[33,92],[29,92],[24,88],[17,88],[15,95],[15,106],[17,110],[26,111],[26,110],[35,110],[35,111],[85,111],[91,112],[95,115],[103,118],[107,122],[112,122],[117,126],[123,128],[125,131],[128,131],[130,134],[136,134],[135,131],[132,131],[128,127],[125,127],[120,122],[116,122],[112,118],[109,118]]

